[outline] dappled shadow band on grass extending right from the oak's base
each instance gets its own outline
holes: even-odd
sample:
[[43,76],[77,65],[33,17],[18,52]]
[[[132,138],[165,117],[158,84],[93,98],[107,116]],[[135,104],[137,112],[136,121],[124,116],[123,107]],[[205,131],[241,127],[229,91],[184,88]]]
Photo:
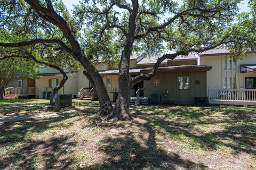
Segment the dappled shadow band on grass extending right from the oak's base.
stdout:
[[[222,116],[212,115],[211,113],[219,112]],[[185,135],[191,141],[194,141],[201,148],[216,150],[219,146],[233,148],[234,153],[241,151],[247,154],[256,155],[256,117],[254,108],[246,108],[235,106],[225,107],[198,107],[193,111],[189,111],[188,107],[180,107],[179,109],[169,109],[169,112],[156,111],[151,114],[141,112],[137,116],[147,121],[148,124],[159,126],[171,137],[175,135]],[[158,116],[162,115],[161,118]],[[170,120],[170,116],[178,115],[180,120],[189,120],[189,122],[179,122]],[[215,118],[213,118],[216,116]],[[213,128],[222,129],[207,133],[194,133],[191,129],[195,125],[212,125]]]

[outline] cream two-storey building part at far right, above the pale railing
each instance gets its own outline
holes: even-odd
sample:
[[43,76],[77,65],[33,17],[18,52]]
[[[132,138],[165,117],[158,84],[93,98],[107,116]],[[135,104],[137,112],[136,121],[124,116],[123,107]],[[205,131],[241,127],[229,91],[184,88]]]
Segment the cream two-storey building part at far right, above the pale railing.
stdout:
[[212,66],[207,72],[209,89],[256,89],[255,53],[235,60],[228,50],[208,50],[201,54],[201,64]]

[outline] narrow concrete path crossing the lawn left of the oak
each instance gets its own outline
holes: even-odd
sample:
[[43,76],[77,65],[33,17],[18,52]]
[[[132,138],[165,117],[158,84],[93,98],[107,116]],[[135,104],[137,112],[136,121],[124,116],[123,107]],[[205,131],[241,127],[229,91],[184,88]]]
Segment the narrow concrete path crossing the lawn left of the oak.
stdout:
[[34,118],[40,118],[40,117],[46,117],[46,116],[55,116],[60,115],[63,113],[74,113],[77,111],[90,111],[92,109],[98,109],[96,107],[89,107],[84,109],[77,109],[77,110],[71,110],[71,111],[62,111],[62,112],[54,112],[54,113],[45,113],[45,114],[38,114],[38,115],[25,115],[25,116],[13,116],[8,118],[0,118],[0,123],[7,123],[7,122],[14,122],[14,121],[23,121],[23,120],[29,120]]

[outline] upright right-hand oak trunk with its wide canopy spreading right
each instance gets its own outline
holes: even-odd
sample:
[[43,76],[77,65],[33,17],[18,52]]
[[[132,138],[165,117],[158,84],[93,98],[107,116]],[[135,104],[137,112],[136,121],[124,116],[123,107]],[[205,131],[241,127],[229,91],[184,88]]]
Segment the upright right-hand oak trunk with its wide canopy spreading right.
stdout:
[[[84,29],[86,53],[119,57],[119,94],[113,116],[130,120],[130,89],[150,80],[166,58],[225,46],[241,56],[255,49],[255,2],[238,14],[240,0],[82,1],[75,6]],[[253,15],[253,16],[252,16]],[[131,78],[130,56],[158,56],[148,74]]]

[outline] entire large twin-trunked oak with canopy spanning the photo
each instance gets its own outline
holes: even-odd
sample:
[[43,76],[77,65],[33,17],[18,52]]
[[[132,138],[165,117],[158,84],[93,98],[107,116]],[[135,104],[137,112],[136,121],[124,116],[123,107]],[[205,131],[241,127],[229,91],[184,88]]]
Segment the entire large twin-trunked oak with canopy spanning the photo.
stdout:
[[[2,42],[0,47],[33,51],[35,46],[43,46],[73,57],[83,65],[101,106],[109,97],[91,61],[118,61],[119,95],[110,117],[121,120],[131,118],[131,87],[151,79],[166,58],[223,45],[239,55],[255,49],[254,1],[250,13],[238,15],[240,0],[84,0],[75,6],[74,16],[59,1],[0,2],[2,29],[23,37],[19,42]],[[131,78],[132,53],[157,55],[158,60],[150,73]]]

